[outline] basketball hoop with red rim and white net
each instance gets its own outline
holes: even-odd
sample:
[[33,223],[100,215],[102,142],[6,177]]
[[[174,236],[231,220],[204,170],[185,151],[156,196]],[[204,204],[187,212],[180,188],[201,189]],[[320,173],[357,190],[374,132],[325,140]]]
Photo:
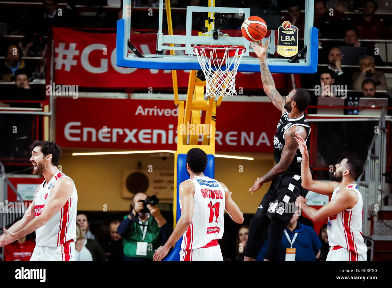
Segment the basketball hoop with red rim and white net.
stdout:
[[205,75],[205,96],[218,99],[237,94],[236,75],[245,50],[243,46],[231,45],[193,47]]

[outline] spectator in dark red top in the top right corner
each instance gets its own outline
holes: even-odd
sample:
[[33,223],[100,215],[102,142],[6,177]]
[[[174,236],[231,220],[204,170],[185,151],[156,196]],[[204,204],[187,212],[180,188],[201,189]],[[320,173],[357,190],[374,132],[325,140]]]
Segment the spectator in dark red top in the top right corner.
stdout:
[[358,31],[360,39],[391,39],[391,32],[374,14],[377,11],[377,2],[366,1],[363,7],[363,16],[353,18],[350,22]]

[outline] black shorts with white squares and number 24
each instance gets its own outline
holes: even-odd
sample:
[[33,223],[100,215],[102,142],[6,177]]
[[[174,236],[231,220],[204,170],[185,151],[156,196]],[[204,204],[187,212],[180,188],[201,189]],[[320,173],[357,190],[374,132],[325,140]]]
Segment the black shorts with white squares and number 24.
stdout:
[[272,180],[254,216],[260,219],[265,215],[278,217],[288,225],[296,211],[297,197],[305,197],[308,193],[308,190],[301,186],[300,176],[300,173],[284,172]]

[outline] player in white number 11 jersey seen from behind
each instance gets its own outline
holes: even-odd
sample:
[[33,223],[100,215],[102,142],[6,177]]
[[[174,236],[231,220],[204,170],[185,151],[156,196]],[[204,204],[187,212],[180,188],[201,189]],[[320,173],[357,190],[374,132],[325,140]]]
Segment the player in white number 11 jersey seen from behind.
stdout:
[[160,261],[183,235],[181,261],[223,261],[218,239],[222,238],[225,210],[236,223],[243,223],[243,214],[234,203],[226,185],[204,176],[207,154],[199,148],[187,153],[187,172],[191,177],[180,184],[181,217],[173,233],[154,254]]

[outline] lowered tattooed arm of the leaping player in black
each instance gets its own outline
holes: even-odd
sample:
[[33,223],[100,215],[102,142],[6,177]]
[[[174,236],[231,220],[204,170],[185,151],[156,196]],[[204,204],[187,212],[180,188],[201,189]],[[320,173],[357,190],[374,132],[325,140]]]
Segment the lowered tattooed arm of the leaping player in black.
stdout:
[[260,189],[263,183],[269,182],[276,178],[276,176],[278,176],[280,173],[287,171],[298,149],[298,143],[295,139],[296,133],[303,136],[304,138],[307,136],[305,128],[299,125],[293,126],[287,130],[285,134],[285,146],[283,147],[279,163],[272,167],[272,169],[269,170],[267,174],[257,179],[254,185],[249,189],[252,194],[256,192],[256,190]]

